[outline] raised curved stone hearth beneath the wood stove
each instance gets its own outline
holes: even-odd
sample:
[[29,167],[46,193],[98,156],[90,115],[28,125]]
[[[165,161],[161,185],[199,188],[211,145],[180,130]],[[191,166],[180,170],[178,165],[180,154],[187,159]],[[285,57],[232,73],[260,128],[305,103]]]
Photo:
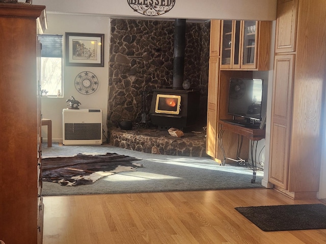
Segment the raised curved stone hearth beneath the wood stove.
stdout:
[[209,157],[206,154],[206,131],[185,132],[183,137],[174,137],[168,131],[156,129],[111,131],[110,144],[116,147],[149,154]]

